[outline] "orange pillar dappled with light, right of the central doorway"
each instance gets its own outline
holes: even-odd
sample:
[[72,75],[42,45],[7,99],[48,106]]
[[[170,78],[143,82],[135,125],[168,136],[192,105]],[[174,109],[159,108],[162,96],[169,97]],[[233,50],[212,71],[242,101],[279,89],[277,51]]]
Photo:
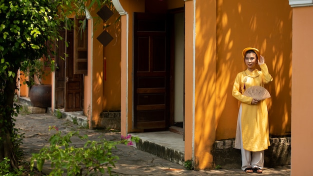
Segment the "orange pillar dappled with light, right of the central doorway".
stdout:
[[[188,4],[191,5],[191,4]],[[186,4],[187,6],[187,4]],[[189,6],[190,8],[192,6]],[[186,14],[187,15],[187,14]],[[193,15],[192,15],[193,16]],[[189,16],[189,17],[192,17]],[[192,21],[190,21],[192,22]],[[186,25],[191,25],[186,23]],[[191,25],[192,26],[192,25]],[[214,27],[212,27],[214,26]],[[185,57],[185,61],[193,59],[193,64],[185,64],[185,70],[194,65],[194,90],[185,89],[185,98],[190,98],[194,92],[194,168],[211,168],[213,158],[211,147],[215,141],[215,108],[216,108],[216,1],[197,0],[195,3],[195,45],[194,59]],[[186,33],[187,35],[187,33]],[[189,52],[190,50],[186,50]],[[188,61],[189,62],[189,61]],[[189,74],[189,73],[185,73]],[[186,82],[190,78],[186,77]],[[187,101],[185,99],[185,101]],[[190,111],[192,106],[185,104]],[[185,114],[185,119],[191,118]],[[192,124],[185,123],[185,126]],[[185,143],[187,145],[187,143]],[[189,143],[190,145],[190,143]],[[189,151],[188,151],[189,152]]]

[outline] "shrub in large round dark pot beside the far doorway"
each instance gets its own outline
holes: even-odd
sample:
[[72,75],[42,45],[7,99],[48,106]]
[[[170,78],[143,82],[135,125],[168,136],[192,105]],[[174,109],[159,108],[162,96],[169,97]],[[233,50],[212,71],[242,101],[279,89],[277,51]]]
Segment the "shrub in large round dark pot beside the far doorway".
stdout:
[[[29,86],[29,99],[32,106],[35,107],[51,107],[51,84],[43,84],[42,82],[50,72],[44,69],[47,63],[49,61],[42,59],[34,59],[22,63],[22,66],[27,70],[24,74],[28,76],[28,80],[24,80],[23,83]],[[49,66],[53,70],[53,60],[50,63]]]

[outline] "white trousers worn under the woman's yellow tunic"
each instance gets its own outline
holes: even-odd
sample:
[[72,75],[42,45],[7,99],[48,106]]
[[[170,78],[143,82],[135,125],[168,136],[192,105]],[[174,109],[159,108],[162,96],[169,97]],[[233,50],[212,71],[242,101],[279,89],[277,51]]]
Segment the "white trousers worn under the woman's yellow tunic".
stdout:
[[[239,128],[240,128],[240,136],[242,136],[242,131],[241,131],[241,104],[239,108],[239,114],[238,114],[238,122],[239,122]],[[264,150],[262,151],[248,151],[243,149],[243,144],[242,144],[242,137],[240,137],[240,145],[241,145],[241,169],[244,170],[245,168],[248,167],[259,167],[263,168],[264,165]]]

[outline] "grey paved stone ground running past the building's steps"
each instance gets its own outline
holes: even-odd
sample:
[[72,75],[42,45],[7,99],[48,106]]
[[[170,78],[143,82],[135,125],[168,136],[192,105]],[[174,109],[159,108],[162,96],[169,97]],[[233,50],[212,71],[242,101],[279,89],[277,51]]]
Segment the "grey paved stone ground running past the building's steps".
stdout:
[[[79,128],[66,119],[57,119],[47,113],[37,114],[19,114],[16,117],[15,126],[24,133],[25,138],[21,148],[24,151],[26,160],[30,160],[31,153],[36,153],[44,145],[48,145],[49,138],[53,131],[48,131],[49,125],[56,125],[59,130],[68,132],[79,130],[80,135],[87,134],[89,139],[98,140],[98,137],[104,137],[107,140],[118,140],[119,132],[110,132],[108,130],[91,130]],[[83,143],[78,138],[72,138],[72,143],[76,146],[82,146]],[[150,153],[143,152],[137,148],[118,145],[113,154],[118,155],[119,160],[113,168],[115,175],[247,175],[238,169],[217,169],[217,170],[186,170],[182,165],[159,158]],[[48,173],[49,163],[43,167],[43,172]],[[252,173],[248,175],[259,175]],[[290,175],[290,166],[277,168],[264,168],[262,175]]]

